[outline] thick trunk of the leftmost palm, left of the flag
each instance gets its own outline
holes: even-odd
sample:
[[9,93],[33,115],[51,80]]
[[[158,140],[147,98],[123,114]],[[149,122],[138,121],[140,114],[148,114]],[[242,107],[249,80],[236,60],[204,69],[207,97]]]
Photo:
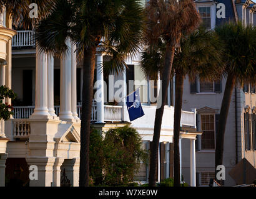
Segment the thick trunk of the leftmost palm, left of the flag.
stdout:
[[96,47],[84,50],[79,187],[89,186],[89,139]]

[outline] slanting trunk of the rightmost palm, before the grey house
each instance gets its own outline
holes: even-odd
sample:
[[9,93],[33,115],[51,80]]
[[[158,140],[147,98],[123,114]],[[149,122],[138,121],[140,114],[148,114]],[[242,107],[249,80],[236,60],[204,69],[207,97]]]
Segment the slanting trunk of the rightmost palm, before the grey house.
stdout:
[[[227,116],[229,114],[229,106],[232,97],[232,91],[235,86],[235,75],[229,74],[227,76],[227,82],[225,85],[224,96],[222,99],[222,105],[220,109],[220,118],[219,118],[219,128],[217,131],[216,137],[216,149],[215,149],[215,169],[218,165],[222,165],[223,161],[223,149],[224,149],[224,135],[225,135],[225,126],[227,123]],[[217,174],[217,171],[215,170]],[[215,179],[216,175],[215,175]]]

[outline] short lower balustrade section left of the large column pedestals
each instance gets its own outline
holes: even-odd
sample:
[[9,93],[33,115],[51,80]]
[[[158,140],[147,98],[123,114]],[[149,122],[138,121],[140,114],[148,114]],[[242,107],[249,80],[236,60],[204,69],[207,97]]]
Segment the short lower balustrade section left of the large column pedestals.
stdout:
[[26,139],[29,137],[30,131],[30,123],[27,119],[14,119],[13,120],[13,137],[14,139]]

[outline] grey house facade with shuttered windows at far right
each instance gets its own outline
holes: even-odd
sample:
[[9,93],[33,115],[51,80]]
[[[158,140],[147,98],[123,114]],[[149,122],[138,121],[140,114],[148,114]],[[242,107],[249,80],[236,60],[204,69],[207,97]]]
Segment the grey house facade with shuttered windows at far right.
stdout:
[[[219,2],[225,4],[225,19],[217,19],[215,12],[214,14],[211,12],[214,10],[212,6],[217,6],[218,2],[204,1],[201,4],[197,1],[197,7],[204,7],[201,9],[206,12],[210,10],[209,16],[214,17],[215,25],[229,19],[234,20],[235,14],[237,14],[240,21],[243,21],[244,25],[256,24],[255,20],[252,20],[256,17],[254,2],[235,1],[234,5],[237,13],[234,12],[232,1]],[[202,14],[205,16],[204,12]],[[247,17],[245,18],[245,16]],[[208,22],[210,21],[209,27],[213,26],[214,19],[208,19]],[[205,22],[207,21],[205,20]],[[203,132],[202,136],[197,136],[196,144],[197,186],[209,186],[210,178],[215,178],[215,137],[225,83],[225,76],[221,80],[211,83],[200,82],[199,78],[195,83],[190,83],[188,77],[184,81],[182,108],[197,108],[197,131]],[[225,166],[226,186],[236,185],[229,172],[244,157],[256,168],[255,105],[255,85],[245,85],[244,88],[237,86],[234,89],[225,129],[223,164]],[[190,180],[190,157],[186,153],[188,148],[189,143],[182,140],[182,175],[184,175],[186,182]]]

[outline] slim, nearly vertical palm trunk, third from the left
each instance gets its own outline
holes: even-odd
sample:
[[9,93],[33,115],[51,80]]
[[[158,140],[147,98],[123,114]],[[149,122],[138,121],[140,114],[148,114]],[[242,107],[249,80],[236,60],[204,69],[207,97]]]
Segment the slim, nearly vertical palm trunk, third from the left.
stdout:
[[180,118],[182,110],[184,74],[176,72],[174,106],[174,186],[180,187]]

